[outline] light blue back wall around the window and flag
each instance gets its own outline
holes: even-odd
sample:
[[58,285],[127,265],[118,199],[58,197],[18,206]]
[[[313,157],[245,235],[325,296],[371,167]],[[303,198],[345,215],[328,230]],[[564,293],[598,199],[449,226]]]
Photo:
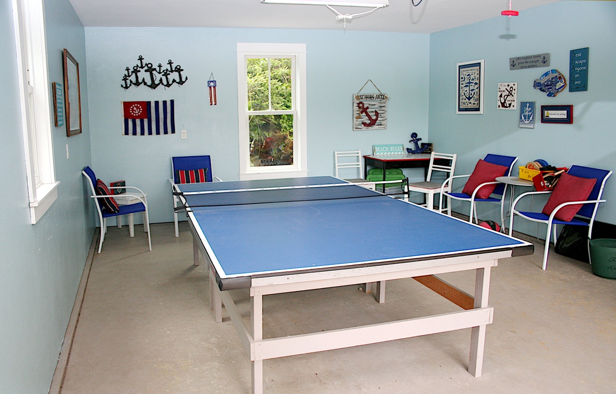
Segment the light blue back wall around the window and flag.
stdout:
[[[126,179],[148,194],[152,222],[172,220],[168,178],[174,155],[209,154],[213,172],[238,179],[237,43],[306,43],[309,174],[332,175],[334,150],[373,144],[408,146],[414,131],[428,133],[428,35],[341,30],[86,28],[92,163],[106,182]],[[142,55],[154,65],[171,59],[188,77],[182,86],[124,91],[124,69]],[[218,105],[206,82],[214,73]],[[386,130],[352,130],[352,95],[371,79],[391,97]],[[368,84],[362,92],[377,92]],[[174,99],[176,128],[169,136],[122,136],[122,101]]]

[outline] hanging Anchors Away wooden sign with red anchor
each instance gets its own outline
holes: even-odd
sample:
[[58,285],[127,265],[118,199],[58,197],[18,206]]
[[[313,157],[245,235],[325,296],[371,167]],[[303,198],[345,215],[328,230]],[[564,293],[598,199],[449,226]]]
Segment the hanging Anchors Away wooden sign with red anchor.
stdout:
[[[363,86],[371,81],[366,81]],[[362,89],[363,89],[362,86]],[[362,89],[353,96],[353,129],[354,130],[384,130],[387,128],[387,94],[360,94]]]

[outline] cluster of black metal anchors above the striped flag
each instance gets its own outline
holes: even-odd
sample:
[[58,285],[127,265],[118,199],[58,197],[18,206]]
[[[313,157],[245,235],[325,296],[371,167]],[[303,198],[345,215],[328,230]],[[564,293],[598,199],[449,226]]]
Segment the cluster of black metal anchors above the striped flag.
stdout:
[[[174,83],[182,85],[188,80],[188,77],[182,76],[184,68],[179,64],[174,67],[171,59],[167,62],[168,67],[164,69],[160,63],[158,67],[153,67],[152,63],[144,63],[145,59],[142,55],[139,55],[137,60],[139,63],[132,66],[132,70],[131,67],[126,67],[126,74],[122,76],[123,84],[120,85],[124,89],[140,85],[151,89],[156,89],[158,86],[169,88]],[[139,73],[142,73],[142,76]]]

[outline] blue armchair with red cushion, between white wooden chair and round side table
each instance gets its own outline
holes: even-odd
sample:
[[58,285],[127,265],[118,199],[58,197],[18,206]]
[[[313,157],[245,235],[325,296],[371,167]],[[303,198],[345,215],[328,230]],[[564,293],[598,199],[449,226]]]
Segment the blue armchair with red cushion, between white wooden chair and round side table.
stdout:
[[[501,208],[501,226],[505,221],[505,184],[496,182],[499,176],[509,176],[517,157],[488,154],[484,160],[479,160],[472,174],[455,175],[445,179],[440,190],[439,206],[443,206],[443,197],[449,199],[468,201],[471,210],[468,221],[472,223],[474,216],[477,221],[477,202],[498,202]],[[445,186],[456,178],[468,178],[461,193],[447,192]],[[449,211],[451,215],[451,211]]]

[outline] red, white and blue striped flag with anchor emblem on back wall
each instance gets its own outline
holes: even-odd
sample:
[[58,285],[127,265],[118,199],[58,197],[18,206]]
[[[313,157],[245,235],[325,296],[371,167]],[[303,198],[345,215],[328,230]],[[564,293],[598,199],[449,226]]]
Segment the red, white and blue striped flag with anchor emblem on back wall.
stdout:
[[175,134],[176,120],[173,100],[124,101],[124,135],[152,136]]

